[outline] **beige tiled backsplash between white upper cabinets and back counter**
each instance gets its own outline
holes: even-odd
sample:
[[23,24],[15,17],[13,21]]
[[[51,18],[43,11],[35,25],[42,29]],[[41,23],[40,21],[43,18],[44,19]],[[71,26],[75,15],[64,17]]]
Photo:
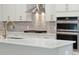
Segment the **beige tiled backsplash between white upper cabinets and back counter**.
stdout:
[[[3,24],[0,22],[0,31],[3,29]],[[24,30],[34,30],[34,23],[32,21],[15,21],[15,28],[10,31],[24,32]],[[46,22],[44,28],[38,30],[47,30],[48,33],[56,32],[56,22],[50,21]]]

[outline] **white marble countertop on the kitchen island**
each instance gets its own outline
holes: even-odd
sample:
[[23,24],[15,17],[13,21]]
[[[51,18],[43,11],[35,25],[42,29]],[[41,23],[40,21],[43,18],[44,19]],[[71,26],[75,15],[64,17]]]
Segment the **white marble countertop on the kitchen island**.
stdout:
[[[24,46],[33,46],[33,47],[42,47],[42,48],[58,48],[61,46],[69,45],[75,43],[75,41],[64,41],[64,40],[56,40],[55,38],[38,38],[27,36],[26,34],[17,33],[22,39],[0,39],[0,43],[9,43],[16,45],[24,45]],[[11,35],[11,34],[10,34]],[[12,35],[11,35],[12,36]]]

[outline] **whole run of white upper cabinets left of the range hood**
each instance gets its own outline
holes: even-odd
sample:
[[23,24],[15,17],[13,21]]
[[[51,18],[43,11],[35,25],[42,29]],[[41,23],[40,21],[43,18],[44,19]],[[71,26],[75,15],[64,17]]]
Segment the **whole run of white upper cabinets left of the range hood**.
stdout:
[[0,20],[6,21],[32,21],[31,13],[27,13],[28,4],[2,4],[0,5]]

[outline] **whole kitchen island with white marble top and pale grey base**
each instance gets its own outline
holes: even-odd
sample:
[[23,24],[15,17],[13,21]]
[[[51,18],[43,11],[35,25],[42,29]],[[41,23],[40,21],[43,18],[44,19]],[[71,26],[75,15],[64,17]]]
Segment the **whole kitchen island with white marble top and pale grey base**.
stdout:
[[74,41],[45,38],[0,39],[1,55],[72,55]]

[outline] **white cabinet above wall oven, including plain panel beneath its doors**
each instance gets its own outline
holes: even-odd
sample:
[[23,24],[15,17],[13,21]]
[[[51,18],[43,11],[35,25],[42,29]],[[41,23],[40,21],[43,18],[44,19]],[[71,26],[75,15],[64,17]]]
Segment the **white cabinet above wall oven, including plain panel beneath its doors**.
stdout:
[[79,16],[79,4],[56,4],[56,16]]

